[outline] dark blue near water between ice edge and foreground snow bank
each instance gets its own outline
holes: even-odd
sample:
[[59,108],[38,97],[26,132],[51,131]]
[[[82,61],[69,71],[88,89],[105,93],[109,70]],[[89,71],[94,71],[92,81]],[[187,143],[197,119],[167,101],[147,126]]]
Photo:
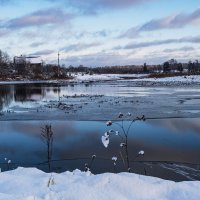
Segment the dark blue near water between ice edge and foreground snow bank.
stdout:
[[[129,158],[133,172],[176,181],[200,180],[200,119],[165,119],[135,122],[129,132]],[[120,152],[120,138],[113,135],[108,148],[101,136],[117,125],[107,127],[95,121],[9,121],[0,122],[0,167],[38,167],[48,171],[47,148],[41,127],[51,123],[54,133],[52,171],[84,170],[96,155],[93,173],[127,171]],[[119,122],[120,123],[120,122]],[[130,122],[124,123],[127,129]],[[138,156],[143,150],[144,156]],[[117,156],[113,167],[111,158]],[[5,160],[7,158],[7,160]],[[7,165],[7,161],[11,164]]]

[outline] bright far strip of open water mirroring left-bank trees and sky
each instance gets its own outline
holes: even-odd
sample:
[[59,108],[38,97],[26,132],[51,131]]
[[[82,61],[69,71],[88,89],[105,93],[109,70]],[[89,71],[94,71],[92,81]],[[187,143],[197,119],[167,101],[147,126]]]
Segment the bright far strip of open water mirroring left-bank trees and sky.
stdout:
[[[200,89],[134,87],[126,82],[59,84],[9,84],[0,85],[0,111],[17,108],[32,108],[47,101],[58,101],[63,96],[104,95],[113,97],[144,97],[158,95],[179,95],[195,98]],[[62,99],[61,99],[62,100]]]

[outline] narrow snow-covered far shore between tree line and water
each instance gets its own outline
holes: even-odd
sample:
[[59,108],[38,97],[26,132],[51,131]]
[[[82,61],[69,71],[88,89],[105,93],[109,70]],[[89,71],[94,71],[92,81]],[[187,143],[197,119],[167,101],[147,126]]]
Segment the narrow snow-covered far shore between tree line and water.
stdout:
[[0,85],[8,84],[31,84],[31,83],[47,83],[47,84],[65,84],[65,83],[83,83],[83,82],[103,82],[103,81],[128,81],[134,84],[146,85],[195,85],[200,84],[200,75],[190,76],[174,76],[165,78],[148,78],[148,74],[73,74],[74,78],[70,80],[24,80],[24,81],[0,81]]

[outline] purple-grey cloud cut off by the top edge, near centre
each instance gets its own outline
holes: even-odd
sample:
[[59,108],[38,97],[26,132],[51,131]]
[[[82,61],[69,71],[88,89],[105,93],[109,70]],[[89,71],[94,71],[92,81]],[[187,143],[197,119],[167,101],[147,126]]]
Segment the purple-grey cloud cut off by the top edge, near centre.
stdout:
[[[47,1],[56,2],[56,0]],[[105,11],[105,9],[122,9],[150,1],[155,0],[61,0],[68,7],[76,8],[86,15],[97,14],[101,10]]]

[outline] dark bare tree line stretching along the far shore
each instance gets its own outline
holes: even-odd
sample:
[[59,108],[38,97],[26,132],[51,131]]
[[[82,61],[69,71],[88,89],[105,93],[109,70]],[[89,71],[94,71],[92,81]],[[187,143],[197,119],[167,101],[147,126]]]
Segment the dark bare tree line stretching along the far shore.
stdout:
[[80,65],[59,66],[58,64],[30,63],[26,57],[10,59],[6,52],[0,50],[0,79],[1,80],[24,80],[24,79],[69,79],[74,73],[83,74],[199,74],[200,63],[198,60],[188,63],[179,63],[175,59],[160,65],[126,65],[126,66],[103,66],[87,67]]

